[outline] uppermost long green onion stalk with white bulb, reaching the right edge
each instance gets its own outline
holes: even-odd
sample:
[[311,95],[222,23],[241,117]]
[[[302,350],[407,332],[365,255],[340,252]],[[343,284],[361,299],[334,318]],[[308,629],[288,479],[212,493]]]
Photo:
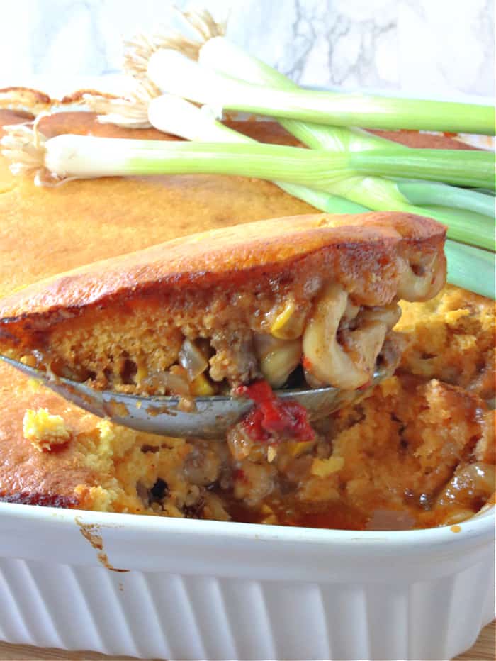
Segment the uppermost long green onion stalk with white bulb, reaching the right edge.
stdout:
[[232,111],[338,126],[412,128],[495,135],[492,106],[272,89],[205,69],[176,50],[154,52],[147,73],[162,91]]

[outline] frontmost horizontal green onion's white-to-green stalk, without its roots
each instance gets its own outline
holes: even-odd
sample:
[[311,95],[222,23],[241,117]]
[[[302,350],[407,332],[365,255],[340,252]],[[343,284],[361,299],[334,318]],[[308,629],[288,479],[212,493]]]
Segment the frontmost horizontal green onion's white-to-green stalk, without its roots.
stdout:
[[[439,150],[439,158],[434,160],[436,150],[432,150],[434,155],[425,154],[426,150],[344,153],[259,143],[174,143],[86,135],[57,135],[47,140],[44,148],[47,169],[62,177],[235,174],[280,179],[324,191],[332,191],[332,184],[356,173],[390,172],[393,168],[400,176],[411,176],[415,167],[420,177],[437,176],[449,182],[462,178],[463,165],[469,170],[469,182],[480,179],[489,185],[492,160],[489,153],[456,150]],[[463,155],[465,162],[460,157]]]

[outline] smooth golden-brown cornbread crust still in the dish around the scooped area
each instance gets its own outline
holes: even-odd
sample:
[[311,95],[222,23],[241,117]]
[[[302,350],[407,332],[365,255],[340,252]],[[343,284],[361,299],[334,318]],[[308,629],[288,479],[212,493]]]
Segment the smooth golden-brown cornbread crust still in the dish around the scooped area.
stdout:
[[[12,97],[11,97],[12,99]],[[13,106],[12,106],[13,107]],[[34,109],[33,109],[34,110]],[[0,108],[1,126],[33,119]],[[253,125],[253,126],[252,126]],[[275,126],[271,124],[271,126]],[[103,125],[85,112],[45,117],[47,135],[71,133],[171,139],[156,130],[133,131]],[[259,139],[279,131],[250,123]],[[258,132],[258,133],[257,133]],[[133,200],[133,204],[129,204]],[[0,294],[40,278],[113,257],[177,236],[273,216],[311,213],[312,207],[274,184],[242,177],[171,176],[72,182],[60,189],[40,189],[28,177],[14,177],[0,156]],[[69,425],[96,424],[93,416],[41,389],[36,394],[22,374],[0,363],[0,499],[51,506],[81,507],[79,484],[101,476],[79,465],[74,448],[57,455],[40,453],[23,437],[28,408],[47,408]],[[91,424],[88,422],[93,418]],[[85,422],[86,421],[86,422]],[[78,427],[79,426],[79,427]]]

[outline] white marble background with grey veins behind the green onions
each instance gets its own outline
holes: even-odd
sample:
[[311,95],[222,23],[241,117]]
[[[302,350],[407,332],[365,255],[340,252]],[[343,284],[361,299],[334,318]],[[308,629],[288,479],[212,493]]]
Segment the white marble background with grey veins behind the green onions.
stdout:
[[[46,89],[56,79],[57,87],[69,91],[76,81],[117,74],[123,38],[169,24],[172,4],[2,0],[0,87]],[[191,6],[187,0],[174,4]],[[201,5],[216,18],[230,10],[230,38],[300,84],[452,99],[495,93],[494,0],[205,0]]]

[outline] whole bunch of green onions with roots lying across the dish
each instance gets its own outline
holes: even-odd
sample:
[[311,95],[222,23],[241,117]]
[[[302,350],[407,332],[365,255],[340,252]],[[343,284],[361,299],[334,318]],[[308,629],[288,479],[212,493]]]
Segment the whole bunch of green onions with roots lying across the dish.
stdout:
[[[448,227],[449,282],[494,297],[494,154],[412,149],[356,128],[494,135],[491,106],[303,90],[225,39],[208,12],[184,16],[198,39],[138,38],[127,60],[140,78],[135,96],[91,102],[101,121],[154,126],[191,143],[60,135],[33,148],[26,129],[12,127],[2,145],[13,170],[34,170],[49,184],[120,174],[237,174],[274,181],[323,211],[418,213]],[[257,143],[217,121],[222,109],[277,118],[310,149]]]

